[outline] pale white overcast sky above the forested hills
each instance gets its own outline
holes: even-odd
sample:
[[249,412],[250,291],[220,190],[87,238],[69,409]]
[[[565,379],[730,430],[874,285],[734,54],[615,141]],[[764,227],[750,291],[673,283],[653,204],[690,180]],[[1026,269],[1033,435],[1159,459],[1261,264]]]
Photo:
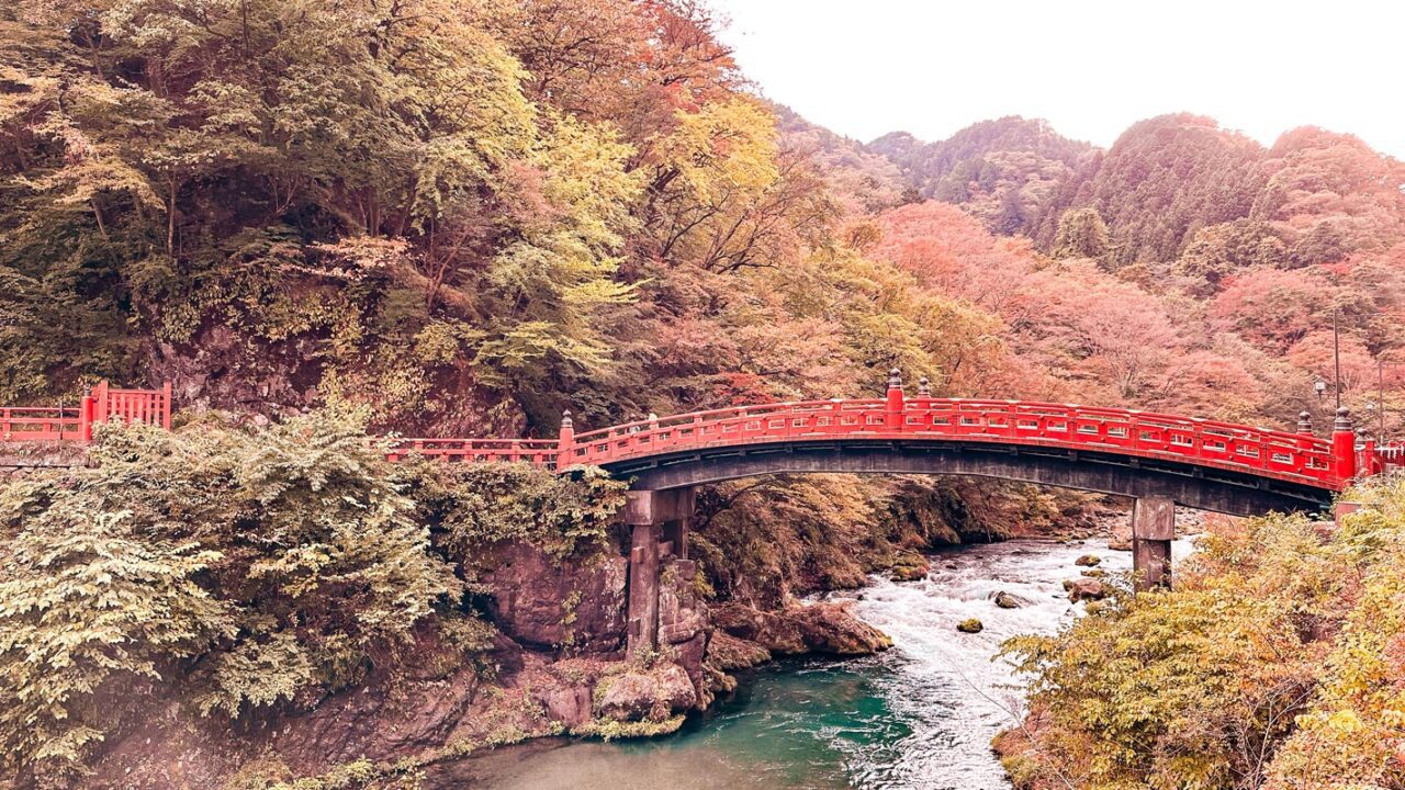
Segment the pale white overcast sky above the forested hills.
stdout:
[[1163,112],[1264,143],[1312,124],[1405,159],[1405,3],[711,0],[770,100],[868,142],[1047,118],[1111,145]]

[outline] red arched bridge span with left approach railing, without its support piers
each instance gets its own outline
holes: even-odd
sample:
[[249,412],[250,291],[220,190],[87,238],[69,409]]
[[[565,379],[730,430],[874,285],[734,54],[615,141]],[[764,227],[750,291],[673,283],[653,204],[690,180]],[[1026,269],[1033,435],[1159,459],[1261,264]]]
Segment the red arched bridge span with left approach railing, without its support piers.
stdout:
[[[523,461],[561,471],[597,465],[673,488],[759,474],[745,464],[721,470],[704,460],[774,455],[818,455],[832,450],[882,451],[889,455],[953,450],[1006,457],[1100,461],[1138,470],[1168,472],[1205,488],[1220,484],[1264,492],[1250,499],[1281,496],[1325,506],[1359,474],[1377,474],[1387,465],[1405,464],[1405,447],[1377,448],[1359,443],[1350,415],[1338,415],[1331,439],[1312,433],[1308,415],[1298,432],[1267,430],[1176,415],[1106,409],[1069,403],[932,398],[926,380],[917,396],[903,395],[894,371],[885,398],[766,403],[648,419],[601,430],[575,433],[570,412],[562,419],[556,440],[540,439],[400,439],[395,457],[407,453],[445,461]],[[770,471],[934,471],[878,468],[894,464],[769,464]],[[825,461],[833,467],[835,462]],[[901,465],[901,464],[899,464]],[[683,467],[690,467],[684,471]],[[961,474],[961,472],[953,472]],[[969,471],[967,474],[981,474]],[[998,475],[1005,477],[1005,475]],[[1017,479],[1027,479],[1017,477]],[[1028,479],[1050,485],[1076,481]],[[1094,481],[1075,488],[1104,491]],[[1135,488],[1135,486],[1134,486]],[[1106,493],[1130,493],[1104,491]],[[1187,506],[1246,514],[1269,507],[1234,502],[1239,498],[1190,496]],[[1222,502],[1215,502],[1222,499]],[[1290,503],[1291,505],[1291,503]]]

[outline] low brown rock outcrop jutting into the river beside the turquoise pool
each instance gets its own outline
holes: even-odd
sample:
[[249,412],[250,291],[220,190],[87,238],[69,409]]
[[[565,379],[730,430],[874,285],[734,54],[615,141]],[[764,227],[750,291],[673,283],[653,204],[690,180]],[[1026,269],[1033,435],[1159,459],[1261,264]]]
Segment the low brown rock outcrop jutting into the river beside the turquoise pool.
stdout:
[[822,602],[759,611],[726,603],[712,610],[712,624],[781,655],[868,655],[892,647],[887,634],[854,617],[851,607],[851,602]]

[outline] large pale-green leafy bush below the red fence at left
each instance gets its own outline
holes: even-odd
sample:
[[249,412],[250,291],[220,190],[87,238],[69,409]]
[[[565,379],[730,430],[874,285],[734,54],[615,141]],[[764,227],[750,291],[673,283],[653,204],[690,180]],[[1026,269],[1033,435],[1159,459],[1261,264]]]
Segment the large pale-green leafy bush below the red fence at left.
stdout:
[[107,429],[91,460],[0,493],[0,742],[27,770],[72,769],[139,683],[237,715],[360,682],[459,590],[357,419]]

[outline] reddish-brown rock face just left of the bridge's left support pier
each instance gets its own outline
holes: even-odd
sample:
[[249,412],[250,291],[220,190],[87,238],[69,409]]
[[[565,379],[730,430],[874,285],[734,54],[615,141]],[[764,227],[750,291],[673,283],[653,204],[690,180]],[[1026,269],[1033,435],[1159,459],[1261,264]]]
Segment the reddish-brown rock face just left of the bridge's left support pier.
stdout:
[[622,557],[558,562],[524,543],[503,545],[483,581],[489,614],[514,641],[566,655],[618,655],[625,638]]

